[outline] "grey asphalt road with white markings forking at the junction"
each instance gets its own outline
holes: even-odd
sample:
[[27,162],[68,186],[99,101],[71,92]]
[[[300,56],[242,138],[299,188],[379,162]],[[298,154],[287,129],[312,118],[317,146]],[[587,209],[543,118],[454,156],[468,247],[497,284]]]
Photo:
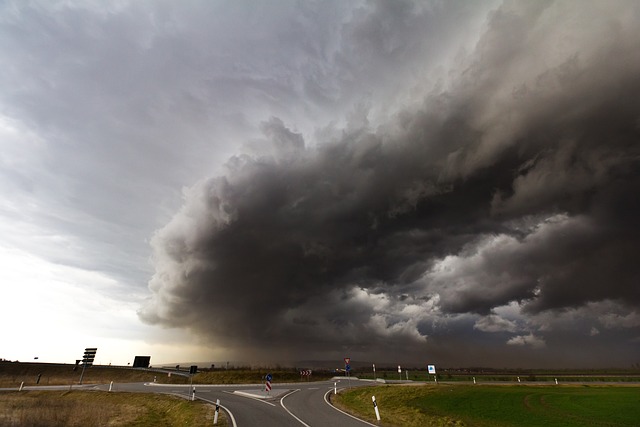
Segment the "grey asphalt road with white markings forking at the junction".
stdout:
[[[371,381],[337,379],[337,389],[370,385]],[[192,398],[190,385],[155,383],[119,383],[73,386],[74,389],[112,392],[166,393]],[[229,425],[236,427],[316,427],[335,425],[365,427],[374,424],[356,419],[336,409],[328,402],[334,392],[334,381],[272,384],[269,394],[264,384],[202,385],[197,384],[195,398],[215,404],[220,399],[221,410],[227,412]],[[68,386],[29,386],[25,390],[69,389]],[[15,389],[13,389],[15,390]],[[373,411],[373,406],[372,406]]]

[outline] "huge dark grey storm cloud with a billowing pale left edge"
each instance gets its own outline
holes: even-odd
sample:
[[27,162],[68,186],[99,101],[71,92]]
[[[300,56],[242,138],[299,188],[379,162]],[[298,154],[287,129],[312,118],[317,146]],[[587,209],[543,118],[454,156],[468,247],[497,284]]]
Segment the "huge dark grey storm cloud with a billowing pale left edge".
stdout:
[[[436,353],[449,360],[468,360],[465,333],[503,334],[486,357],[557,357],[570,312],[580,342],[608,328],[628,345],[639,19],[634,2],[506,2],[419,108],[313,147],[270,119],[155,234],[141,317],[263,358],[421,360],[447,330],[459,345]],[[393,22],[372,49],[393,51]],[[537,354],[526,360],[549,361]]]

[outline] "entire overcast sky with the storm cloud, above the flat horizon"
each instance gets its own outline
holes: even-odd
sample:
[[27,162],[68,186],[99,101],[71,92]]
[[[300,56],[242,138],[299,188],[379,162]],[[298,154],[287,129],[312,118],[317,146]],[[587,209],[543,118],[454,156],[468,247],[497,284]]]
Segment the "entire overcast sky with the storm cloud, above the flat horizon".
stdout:
[[0,3],[0,358],[640,363],[640,3]]

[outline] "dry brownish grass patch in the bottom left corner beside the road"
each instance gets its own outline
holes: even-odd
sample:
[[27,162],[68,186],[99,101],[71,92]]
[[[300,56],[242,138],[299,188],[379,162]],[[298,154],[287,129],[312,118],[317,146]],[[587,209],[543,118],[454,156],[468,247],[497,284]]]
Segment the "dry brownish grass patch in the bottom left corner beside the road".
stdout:
[[[23,391],[0,396],[0,426],[213,425],[213,406],[168,395]],[[227,425],[223,411],[218,425]]]

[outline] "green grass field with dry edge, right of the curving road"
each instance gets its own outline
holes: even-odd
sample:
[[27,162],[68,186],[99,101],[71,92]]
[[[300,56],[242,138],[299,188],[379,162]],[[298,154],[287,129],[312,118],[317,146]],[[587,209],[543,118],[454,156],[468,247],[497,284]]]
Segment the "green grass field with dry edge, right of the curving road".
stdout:
[[385,426],[638,426],[640,387],[376,386],[334,397],[375,422],[376,396]]

